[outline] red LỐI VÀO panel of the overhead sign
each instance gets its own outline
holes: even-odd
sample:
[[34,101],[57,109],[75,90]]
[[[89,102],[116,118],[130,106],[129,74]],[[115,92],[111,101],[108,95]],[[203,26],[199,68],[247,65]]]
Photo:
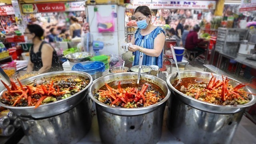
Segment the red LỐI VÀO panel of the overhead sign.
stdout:
[[64,12],[64,3],[46,3],[46,4],[33,4],[33,9],[37,12]]

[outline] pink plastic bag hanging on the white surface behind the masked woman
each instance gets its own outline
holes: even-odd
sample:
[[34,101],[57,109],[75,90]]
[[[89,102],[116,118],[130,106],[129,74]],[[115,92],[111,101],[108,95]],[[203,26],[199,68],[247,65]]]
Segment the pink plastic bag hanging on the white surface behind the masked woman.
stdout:
[[98,21],[98,32],[114,32],[115,23],[114,23],[114,12],[111,13],[111,16],[101,16],[97,12],[97,21]]

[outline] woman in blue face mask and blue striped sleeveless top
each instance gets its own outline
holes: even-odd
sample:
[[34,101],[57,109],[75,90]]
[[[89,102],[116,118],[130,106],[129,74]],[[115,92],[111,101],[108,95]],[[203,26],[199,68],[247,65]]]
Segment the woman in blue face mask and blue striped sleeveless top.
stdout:
[[152,14],[148,6],[138,6],[134,11],[138,29],[134,33],[128,50],[134,52],[133,66],[139,64],[143,54],[142,65],[156,65],[162,68],[165,32],[162,28],[151,24]]

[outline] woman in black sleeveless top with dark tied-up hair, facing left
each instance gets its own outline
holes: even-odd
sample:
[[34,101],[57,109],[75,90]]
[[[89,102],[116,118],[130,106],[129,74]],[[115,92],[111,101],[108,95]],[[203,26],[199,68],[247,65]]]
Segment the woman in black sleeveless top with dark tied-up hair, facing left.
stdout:
[[42,41],[43,34],[44,30],[38,24],[29,24],[24,32],[28,40],[33,42],[30,48],[27,72],[45,73],[63,70],[54,48],[47,42]]

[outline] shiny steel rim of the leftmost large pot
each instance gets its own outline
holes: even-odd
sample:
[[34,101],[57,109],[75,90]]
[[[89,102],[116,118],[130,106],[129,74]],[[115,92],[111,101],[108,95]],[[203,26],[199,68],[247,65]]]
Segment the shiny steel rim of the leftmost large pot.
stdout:
[[[90,74],[87,74],[87,73],[85,73],[85,72],[80,72],[80,71],[48,72],[48,73],[44,73],[44,74],[39,74],[39,75],[36,75],[36,76],[32,76],[32,77],[30,77],[30,78],[26,78],[26,79],[24,79],[24,80],[21,80],[20,82],[22,83],[23,81],[25,81],[25,80],[27,80],[27,79],[31,79],[31,80],[32,80],[32,79],[34,79],[34,78],[37,78],[37,77],[40,77],[40,76],[43,76],[43,75],[44,75],[44,76],[47,76],[47,75],[51,75],[51,74],[65,74],[65,73],[74,73],[74,72],[76,72],[76,73],[78,73],[78,74],[86,74],[86,76],[88,76],[88,78],[90,79],[90,83],[83,89],[83,90],[86,90],[86,89],[92,84],[92,76],[90,76]],[[18,82],[16,82],[16,84],[18,84]],[[19,84],[18,84],[18,85],[19,85]],[[0,97],[2,97],[3,92],[6,91],[6,90],[7,90],[7,89],[5,88],[4,90],[2,90],[2,91],[0,92]],[[58,104],[58,103],[61,103],[61,102],[64,101],[64,100],[72,99],[72,98],[74,98],[74,96],[76,96],[76,95],[82,93],[83,90],[81,90],[80,92],[78,92],[78,93],[76,93],[76,94],[73,94],[72,96],[70,96],[70,97],[68,97],[68,98],[65,98],[65,99],[63,99],[63,100],[58,100],[58,101],[56,101],[56,102],[50,102],[50,103],[48,103],[48,104],[42,104],[42,105],[38,106],[38,108],[40,108],[40,107],[42,107],[42,106],[48,106],[48,105]],[[3,107],[5,107],[5,108],[18,109],[18,110],[27,109],[27,108],[34,108],[34,107],[35,107],[35,106],[22,106],[22,107],[18,107],[18,106],[8,106],[8,105],[3,104],[2,102],[0,102],[0,106],[3,106]]]

